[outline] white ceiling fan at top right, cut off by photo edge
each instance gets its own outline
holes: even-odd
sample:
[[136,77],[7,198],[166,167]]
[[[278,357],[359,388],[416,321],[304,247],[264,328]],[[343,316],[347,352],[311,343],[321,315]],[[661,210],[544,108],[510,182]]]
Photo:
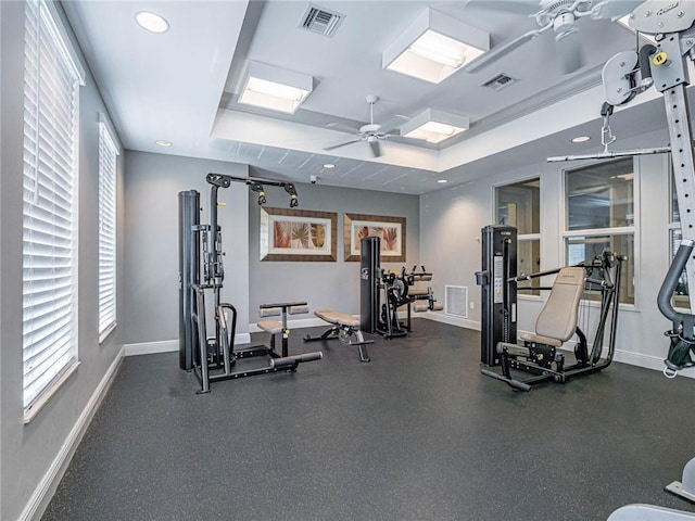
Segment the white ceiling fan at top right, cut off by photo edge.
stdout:
[[475,73],[490,65],[546,30],[555,33],[555,48],[563,74],[569,74],[583,64],[580,31],[574,25],[579,18],[617,20],[630,13],[644,0],[468,0],[467,5],[495,11],[526,14],[535,18],[538,29],[511,38],[483,54],[467,68]]

